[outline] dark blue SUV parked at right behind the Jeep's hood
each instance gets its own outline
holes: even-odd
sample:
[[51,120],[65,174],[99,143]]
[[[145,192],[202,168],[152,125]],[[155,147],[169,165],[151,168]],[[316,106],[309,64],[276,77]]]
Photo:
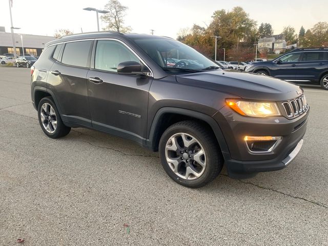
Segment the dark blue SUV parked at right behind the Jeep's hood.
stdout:
[[272,61],[249,64],[246,71],[328,90],[328,48],[295,49]]

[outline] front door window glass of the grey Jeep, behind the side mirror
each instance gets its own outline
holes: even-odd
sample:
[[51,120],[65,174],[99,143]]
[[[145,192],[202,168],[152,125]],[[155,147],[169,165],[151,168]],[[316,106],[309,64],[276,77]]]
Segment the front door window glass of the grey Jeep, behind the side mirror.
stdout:
[[99,40],[95,53],[95,69],[117,72],[117,65],[124,61],[136,61],[136,57],[125,45],[114,40]]

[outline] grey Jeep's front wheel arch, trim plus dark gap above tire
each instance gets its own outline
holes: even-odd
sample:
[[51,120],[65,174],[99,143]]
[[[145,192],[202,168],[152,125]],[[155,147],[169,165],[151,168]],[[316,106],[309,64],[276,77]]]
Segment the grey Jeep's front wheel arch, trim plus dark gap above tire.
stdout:
[[229,153],[223,133],[217,122],[211,116],[188,109],[172,107],[161,108],[157,111],[152,121],[146,145],[153,151],[158,151],[159,140],[163,132],[176,122],[186,119],[197,120],[205,127],[208,127],[214,133],[222,153]]

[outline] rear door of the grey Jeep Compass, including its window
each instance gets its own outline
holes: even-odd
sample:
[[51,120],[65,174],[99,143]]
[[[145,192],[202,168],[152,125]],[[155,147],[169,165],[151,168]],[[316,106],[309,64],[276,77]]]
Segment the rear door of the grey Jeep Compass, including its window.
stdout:
[[58,101],[63,120],[87,127],[91,127],[87,73],[93,42],[77,40],[64,44],[47,79],[49,89]]

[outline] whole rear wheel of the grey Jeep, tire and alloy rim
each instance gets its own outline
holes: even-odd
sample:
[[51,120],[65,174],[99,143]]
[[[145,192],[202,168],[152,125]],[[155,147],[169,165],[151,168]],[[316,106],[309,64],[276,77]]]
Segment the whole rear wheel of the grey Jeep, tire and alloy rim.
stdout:
[[51,138],[66,136],[71,128],[64,125],[51,97],[44,97],[37,107],[39,124],[43,132]]

